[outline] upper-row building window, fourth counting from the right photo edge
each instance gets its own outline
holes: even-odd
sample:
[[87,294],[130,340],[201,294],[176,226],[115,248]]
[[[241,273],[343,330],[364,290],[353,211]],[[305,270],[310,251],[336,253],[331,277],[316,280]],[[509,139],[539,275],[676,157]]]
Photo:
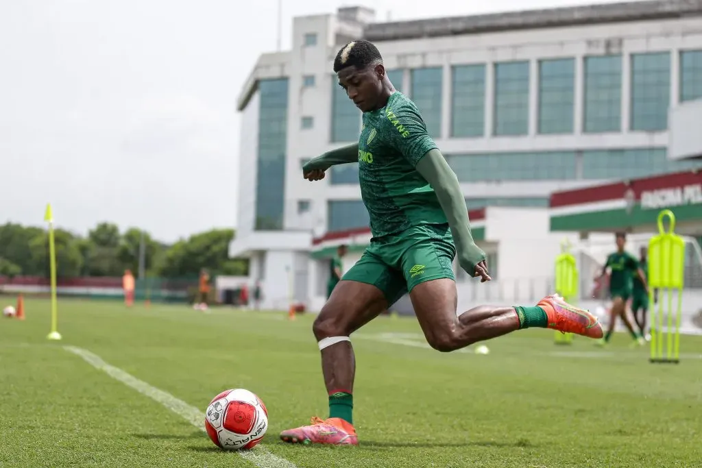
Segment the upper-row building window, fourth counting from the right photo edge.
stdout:
[[538,133],[573,133],[575,60],[538,62]]

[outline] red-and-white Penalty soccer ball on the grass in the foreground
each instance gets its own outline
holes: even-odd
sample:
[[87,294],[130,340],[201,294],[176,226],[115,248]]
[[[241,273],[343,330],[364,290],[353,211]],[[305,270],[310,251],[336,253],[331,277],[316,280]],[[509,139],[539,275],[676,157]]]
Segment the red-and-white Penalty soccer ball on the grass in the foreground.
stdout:
[[215,396],[205,412],[205,429],[224,450],[249,450],[268,429],[268,411],[256,394],[231,389]]

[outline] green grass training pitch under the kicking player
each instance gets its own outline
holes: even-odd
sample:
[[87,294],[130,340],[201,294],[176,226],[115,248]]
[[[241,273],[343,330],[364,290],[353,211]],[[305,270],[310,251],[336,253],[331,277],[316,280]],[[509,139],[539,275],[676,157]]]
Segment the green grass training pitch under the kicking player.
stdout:
[[[413,319],[381,317],[352,336],[361,446],[329,448],[277,437],[327,416],[312,316],[77,300],[59,308],[61,342],[46,340],[48,301],[27,300],[26,321],[0,320],[0,467],[693,467],[702,459],[696,337],[682,337],[678,366],[649,364],[647,349],[630,349],[625,335],[606,349],[578,337],[557,347],[550,330],[486,342],[486,356],[441,354],[425,347]],[[224,389],[256,392],[270,415],[253,450],[262,457],[216,448],[69,345],[203,413]]]

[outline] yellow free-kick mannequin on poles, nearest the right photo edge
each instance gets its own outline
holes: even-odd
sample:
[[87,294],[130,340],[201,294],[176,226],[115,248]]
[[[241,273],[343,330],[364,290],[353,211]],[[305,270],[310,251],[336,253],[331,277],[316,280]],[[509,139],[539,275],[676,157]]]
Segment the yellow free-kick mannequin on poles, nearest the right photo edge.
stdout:
[[[663,218],[668,217],[668,232],[663,227]],[[682,288],[684,286],[685,241],[675,234],[675,215],[671,210],[658,213],[658,234],[649,241],[649,303],[654,304],[654,290],[658,289],[658,308],[651,307],[651,356],[652,363],[680,362],[680,320],[682,317]],[[668,300],[663,305],[663,290]],[[677,291],[677,318],[673,326],[673,291]],[[663,355],[663,309],[668,315],[665,333],[668,339]],[[674,333],[674,335],[671,335]]]

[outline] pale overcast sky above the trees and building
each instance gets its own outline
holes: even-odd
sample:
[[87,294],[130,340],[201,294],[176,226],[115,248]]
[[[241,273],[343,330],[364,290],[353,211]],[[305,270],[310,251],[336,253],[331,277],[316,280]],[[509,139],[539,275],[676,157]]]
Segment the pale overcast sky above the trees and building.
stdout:
[[[86,234],[98,222],[173,242],[235,227],[239,114],[260,53],[277,48],[278,0],[0,2],[0,223]],[[338,6],[378,20],[607,0],[282,0],[294,16]],[[244,13],[246,11],[246,13]]]

